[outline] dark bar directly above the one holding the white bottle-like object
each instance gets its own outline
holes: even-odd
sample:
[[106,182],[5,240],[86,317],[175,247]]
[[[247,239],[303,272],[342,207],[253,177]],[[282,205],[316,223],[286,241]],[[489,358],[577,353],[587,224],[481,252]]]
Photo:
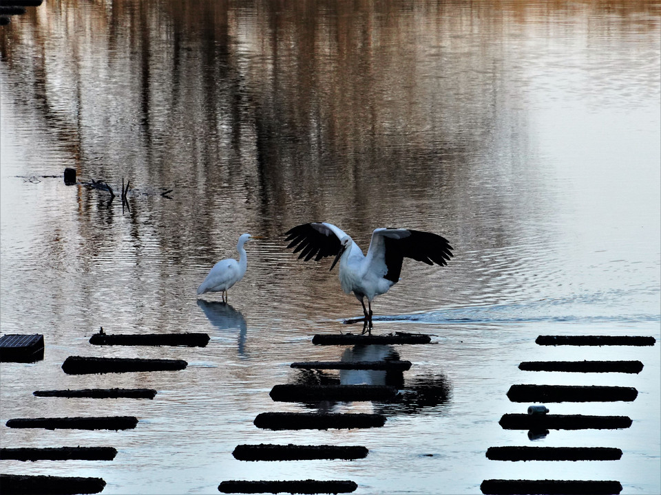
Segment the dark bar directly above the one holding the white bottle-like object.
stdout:
[[622,386],[512,385],[507,397],[512,402],[613,402],[633,401],[638,391]]

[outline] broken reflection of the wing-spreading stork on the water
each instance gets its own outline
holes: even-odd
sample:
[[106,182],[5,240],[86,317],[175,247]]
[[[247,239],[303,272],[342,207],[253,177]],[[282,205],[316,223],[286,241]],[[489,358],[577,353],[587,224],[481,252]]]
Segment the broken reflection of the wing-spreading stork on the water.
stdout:
[[[399,353],[391,345],[357,345],[344,350],[342,362],[399,361]],[[397,389],[395,397],[386,401],[373,401],[374,412],[384,415],[413,415],[439,412],[450,404],[452,384],[445,375],[422,375],[404,379],[401,369],[388,370],[339,370],[329,373],[323,370],[297,370],[293,382],[313,386],[327,385],[384,385]],[[339,401],[307,402],[308,408],[320,412],[333,410]]]

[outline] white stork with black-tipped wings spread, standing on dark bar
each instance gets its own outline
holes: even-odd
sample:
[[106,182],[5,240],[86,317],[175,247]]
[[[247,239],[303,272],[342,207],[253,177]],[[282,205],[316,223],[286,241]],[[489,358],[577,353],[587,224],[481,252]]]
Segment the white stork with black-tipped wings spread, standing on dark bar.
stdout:
[[319,261],[335,256],[330,270],[339,260],[342,290],[345,294],[353,292],[363,306],[363,333],[372,328],[372,301],[399,281],[404,258],[443,266],[452,257],[452,247],[445,237],[404,228],[375,229],[366,256],[348,234],[332,223],[303,223],[285,235],[286,241],[291,241],[287,248],[295,247],[294,252],[301,252],[299,259],[308,261],[315,257]]

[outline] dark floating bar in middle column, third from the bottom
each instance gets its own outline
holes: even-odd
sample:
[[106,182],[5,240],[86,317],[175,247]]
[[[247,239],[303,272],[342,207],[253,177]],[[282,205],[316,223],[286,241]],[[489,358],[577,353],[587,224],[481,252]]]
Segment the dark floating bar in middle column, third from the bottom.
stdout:
[[379,414],[332,412],[262,412],[253,421],[266,430],[328,430],[329,428],[379,428],[386,417]]

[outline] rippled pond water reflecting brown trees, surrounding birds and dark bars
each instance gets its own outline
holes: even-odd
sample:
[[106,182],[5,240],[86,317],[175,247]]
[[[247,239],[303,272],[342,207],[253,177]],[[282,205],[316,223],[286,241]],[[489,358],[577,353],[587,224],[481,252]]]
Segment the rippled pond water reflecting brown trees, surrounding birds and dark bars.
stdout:
[[[474,494],[487,478],[614,479],[661,492],[659,344],[544,349],[540,334],[661,338],[661,6],[653,1],[273,3],[51,1],[0,28],[0,325],[43,333],[42,362],[1,365],[0,439],[112,445],[112,462],[1,461],[4,473],[100,476],[107,494],[218,493],[229,479],[352,479],[359,494]],[[65,167],[84,182],[65,186]],[[58,175],[59,177],[44,177]],[[161,195],[171,190],[167,197]],[[367,247],[377,226],[439,232],[448,267],[406,263],[375,331],[434,345],[319,348],[351,327],[330,261],[282,232],[330,221]],[[249,271],[196,298],[242,232]],[[203,349],[98,349],[109,333],[202,331]],[[367,354],[363,354],[367,353]],[[414,363],[425,404],[373,430],[271,432],[275,384],[383,383],[300,373],[300,360]],[[67,376],[70,355],[180,358],[185,371]],[[523,360],[640,360],[639,375],[525,373]],[[397,377],[395,377],[397,381]],[[515,383],[634,386],[628,430],[502,430]],[[149,387],[152,401],[33,397]],[[12,430],[13,417],[135,415],[120,432]],[[235,461],[240,443],[365,445],[360,461]],[[504,463],[497,445],[612,446],[620,461]]]

